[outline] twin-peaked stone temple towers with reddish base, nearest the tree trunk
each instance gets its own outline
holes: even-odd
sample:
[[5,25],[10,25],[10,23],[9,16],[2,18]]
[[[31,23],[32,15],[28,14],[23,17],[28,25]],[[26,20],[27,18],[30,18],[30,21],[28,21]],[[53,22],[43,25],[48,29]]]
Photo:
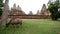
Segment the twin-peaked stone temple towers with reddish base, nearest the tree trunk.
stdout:
[[13,7],[11,8],[10,15],[25,15],[25,13],[22,11],[19,5],[16,7],[16,4],[14,4]]

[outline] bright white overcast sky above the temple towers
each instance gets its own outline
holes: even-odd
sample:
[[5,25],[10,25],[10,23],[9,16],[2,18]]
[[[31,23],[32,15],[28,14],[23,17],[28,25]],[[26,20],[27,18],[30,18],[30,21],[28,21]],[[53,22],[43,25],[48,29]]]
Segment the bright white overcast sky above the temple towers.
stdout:
[[29,11],[36,14],[37,10],[41,10],[43,4],[47,6],[48,1],[49,0],[9,0],[9,6],[11,8],[13,4],[16,3],[26,14],[28,14]]

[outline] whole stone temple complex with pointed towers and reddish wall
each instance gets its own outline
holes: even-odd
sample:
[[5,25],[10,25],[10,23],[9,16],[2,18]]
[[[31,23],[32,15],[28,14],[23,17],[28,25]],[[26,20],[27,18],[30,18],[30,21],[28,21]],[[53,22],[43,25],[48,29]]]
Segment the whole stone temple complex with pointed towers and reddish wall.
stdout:
[[19,18],[50,18],[50,11],[47,10],[46,5],[43,4],[41,11],[37,10],[36,14],[33,14],[32,11],[29,11],[29,14],[26,14],[22,8],[16,4],[13,5],[13,7],[10,10],[9,17],[15,16]]

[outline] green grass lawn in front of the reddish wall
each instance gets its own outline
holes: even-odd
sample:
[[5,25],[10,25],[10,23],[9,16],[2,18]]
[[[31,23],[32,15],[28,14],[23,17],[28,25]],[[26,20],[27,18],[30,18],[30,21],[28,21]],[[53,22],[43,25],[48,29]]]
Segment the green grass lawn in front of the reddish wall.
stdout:
[[[19,26],[19,27],[18,27]],[[13,28],[10,25],[0,34],[60,34],[60,21],[51,19],[23,19],[23,25]]]

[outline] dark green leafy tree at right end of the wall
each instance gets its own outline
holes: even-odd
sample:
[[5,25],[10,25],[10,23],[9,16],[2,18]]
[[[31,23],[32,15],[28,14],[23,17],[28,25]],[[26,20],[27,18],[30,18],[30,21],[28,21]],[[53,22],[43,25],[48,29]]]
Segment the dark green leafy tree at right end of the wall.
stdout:
[[53,20],[57,20],[57,18],[60,16],[60,15],[57,16],[59,13],[58,12],[59,4],[60,4],[59,0],[56,0],[56,1],[49,0],[49,2],[48,2],[48,10],[50,10],[51,17]]

